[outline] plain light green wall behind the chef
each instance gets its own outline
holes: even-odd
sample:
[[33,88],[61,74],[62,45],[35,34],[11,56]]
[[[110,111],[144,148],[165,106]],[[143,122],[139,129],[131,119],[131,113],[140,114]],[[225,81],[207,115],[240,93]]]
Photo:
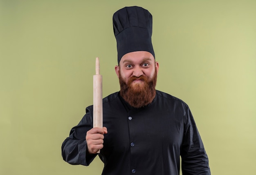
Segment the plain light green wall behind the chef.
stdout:
[[119,91],[112,15],[153,14],[157,89],[189,104],[212,174],[256,172],[255,0],[0,0],[0,174],[99,175],[62,160],[61,144],[92,104]]

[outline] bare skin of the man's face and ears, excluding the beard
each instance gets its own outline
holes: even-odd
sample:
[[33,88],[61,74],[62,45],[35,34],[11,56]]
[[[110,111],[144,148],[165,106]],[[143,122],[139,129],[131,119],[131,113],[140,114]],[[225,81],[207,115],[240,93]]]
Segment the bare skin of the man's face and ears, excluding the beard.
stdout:
[[[121,76],[127,83],[129,78],[141,75],[152,79],[155,71],[158,73],[158,62],[155,62],[153,55],[147,51],[135,51],[126,53],[120,60],[119,66],[115,66],[117,77]],[[119,74],[120,71],[120,74]],[[134,80],[132,85],[144,84],[143,80]]]

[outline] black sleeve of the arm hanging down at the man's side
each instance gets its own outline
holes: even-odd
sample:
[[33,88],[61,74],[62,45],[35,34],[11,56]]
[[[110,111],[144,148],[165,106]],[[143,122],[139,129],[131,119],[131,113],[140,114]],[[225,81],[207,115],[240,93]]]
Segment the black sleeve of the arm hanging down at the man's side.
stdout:
[[184,115],[181,157],[183,175],[211,175],[208,156],[189,108]]

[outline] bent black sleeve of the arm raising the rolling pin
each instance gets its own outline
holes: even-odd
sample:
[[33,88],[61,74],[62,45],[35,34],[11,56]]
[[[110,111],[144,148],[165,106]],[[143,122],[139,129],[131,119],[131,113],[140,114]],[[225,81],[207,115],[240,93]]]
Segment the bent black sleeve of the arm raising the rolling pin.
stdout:
[[93,125],[92,111],[92,106],[86,108],[86,114],[79,124],[71,129],[70,136],[64,140],[61,146],[63,160],[69,164],[88,166],[97,156],[97,154],[89,154],[85,140],[87,131]]

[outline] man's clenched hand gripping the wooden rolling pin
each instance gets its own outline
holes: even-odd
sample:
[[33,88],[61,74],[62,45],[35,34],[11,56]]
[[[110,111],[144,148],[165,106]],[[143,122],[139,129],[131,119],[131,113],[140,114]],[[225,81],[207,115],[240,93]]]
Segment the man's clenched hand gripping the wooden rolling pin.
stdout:
[[86,133],[86,143],[89,153],[96,154],[101,148],[103,148],[104,134],[108,133],[106,127],[92,128]]

